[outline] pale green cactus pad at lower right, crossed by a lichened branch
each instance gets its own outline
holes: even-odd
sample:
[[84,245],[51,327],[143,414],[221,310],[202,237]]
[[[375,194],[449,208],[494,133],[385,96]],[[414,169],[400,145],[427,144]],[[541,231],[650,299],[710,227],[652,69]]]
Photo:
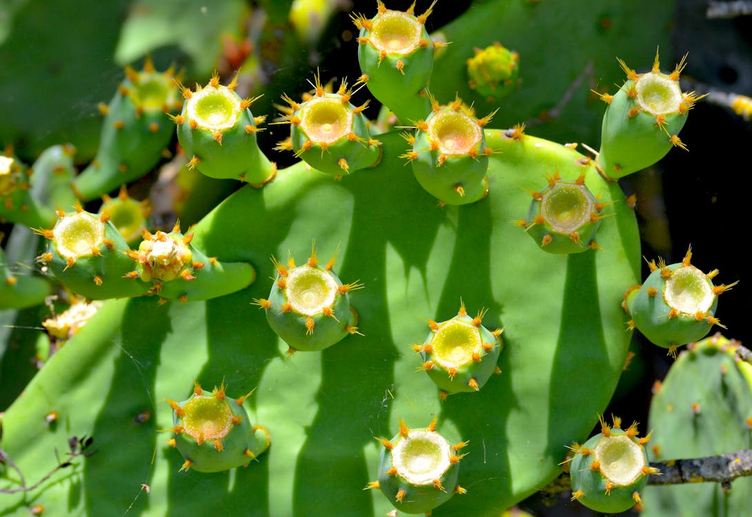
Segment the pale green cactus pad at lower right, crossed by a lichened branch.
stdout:
[[[690,343],[653,386],[648,450],[653,461],[703,458],[749,449],[752,427],[752,366],[735,353],[738,341],[721,334]],[[702,481],[702,478],[696,479]],[[752,479],[720,483],[648,486],[645,517],[663,515],[746,515]]]

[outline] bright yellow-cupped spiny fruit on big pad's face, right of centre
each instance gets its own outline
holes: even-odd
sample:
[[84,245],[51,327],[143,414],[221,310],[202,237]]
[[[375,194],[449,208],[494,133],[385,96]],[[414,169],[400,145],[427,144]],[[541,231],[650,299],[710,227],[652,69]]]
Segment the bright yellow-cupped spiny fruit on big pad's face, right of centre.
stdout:
[[429,321],[431,331],[420,353],[428,376],[439,388],[441,398],[461,392],[478,392],[495,372],[502,351],[502,329],[490,331],[482,324],[485,311],[472,318],[461,304],[459,312],[445,322]]

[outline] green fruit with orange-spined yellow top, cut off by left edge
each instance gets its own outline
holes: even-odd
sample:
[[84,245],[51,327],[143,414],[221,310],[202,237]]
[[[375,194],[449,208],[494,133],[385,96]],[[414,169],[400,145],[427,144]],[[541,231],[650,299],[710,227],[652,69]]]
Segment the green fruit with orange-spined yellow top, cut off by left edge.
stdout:
[[53,224],[55,213],[29,193],[26,168],[14,156],[0,156],[0,219],[34,227]]

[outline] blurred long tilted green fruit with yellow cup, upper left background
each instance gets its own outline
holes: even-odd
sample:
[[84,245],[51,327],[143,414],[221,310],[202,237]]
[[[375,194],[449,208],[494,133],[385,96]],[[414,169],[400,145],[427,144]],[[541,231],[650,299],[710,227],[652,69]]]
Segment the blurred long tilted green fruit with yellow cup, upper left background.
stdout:
[[172,138],[165,113],[179,109],[172,69],[157,72],[150,59],[140,72],[126,67],[126,78],[110,104],[99,105],[105,116],[99,150],[73,182],[77,197],[83,201],[99,198],[150,171]]

